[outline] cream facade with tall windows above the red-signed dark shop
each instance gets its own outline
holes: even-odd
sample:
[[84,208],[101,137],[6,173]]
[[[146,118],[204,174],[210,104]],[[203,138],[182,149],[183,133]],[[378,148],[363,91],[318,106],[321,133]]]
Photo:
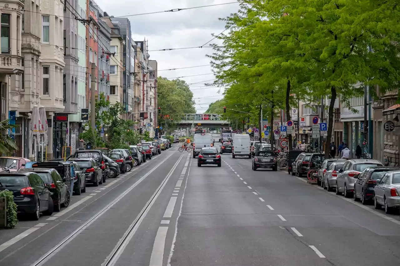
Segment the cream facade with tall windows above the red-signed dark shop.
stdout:
[[42,21],[40,105],[46,108],[48,118],[51,119],[48,120],[48,125],[52,129],[52,134],[49,134],[47,158],[61,158],[62,147],[69,146],[68,113],[64,113],[63,96],[64,4],[61,1],[40,1],[39,11]]

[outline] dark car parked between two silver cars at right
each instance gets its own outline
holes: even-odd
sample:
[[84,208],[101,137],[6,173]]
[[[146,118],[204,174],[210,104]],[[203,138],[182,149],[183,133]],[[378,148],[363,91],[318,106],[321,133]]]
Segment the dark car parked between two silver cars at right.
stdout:
[[353,198],[355,201],[361,200],[366,205],[374,199],[374,187],[376,180],[382,179],[388,171],[398,170],[396,167],[367,167],[360,174],[355,175]]

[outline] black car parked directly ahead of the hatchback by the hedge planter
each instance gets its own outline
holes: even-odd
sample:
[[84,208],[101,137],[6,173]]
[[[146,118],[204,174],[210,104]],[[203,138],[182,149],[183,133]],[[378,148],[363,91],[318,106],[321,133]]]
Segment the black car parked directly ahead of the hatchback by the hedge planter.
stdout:
[[65,178],[61,178],[56,169],[24,168],[19,172],[35,172],[46,186],[50,185],[48,190],[51,194],[55,212],[59,212],[61,207],[68,207],[70,205],[70,188],[65,184]]

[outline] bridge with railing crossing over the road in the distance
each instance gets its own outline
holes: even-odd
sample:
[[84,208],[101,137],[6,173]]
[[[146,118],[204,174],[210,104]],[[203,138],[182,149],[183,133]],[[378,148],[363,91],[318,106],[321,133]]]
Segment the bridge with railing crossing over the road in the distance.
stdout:
[[184,114],[179,121],[178,126],[201,126],[206,128],[227,127],[229,121],[224,120],[219,114]]

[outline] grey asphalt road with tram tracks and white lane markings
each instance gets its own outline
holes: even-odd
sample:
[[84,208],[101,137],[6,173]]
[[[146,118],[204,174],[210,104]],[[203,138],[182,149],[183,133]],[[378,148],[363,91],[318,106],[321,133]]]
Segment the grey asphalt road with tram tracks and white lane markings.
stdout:
[[0,266],[399,264],[398,215],[230,154],[199,168],[177,148],[54,220],[0,230],[1,250],[39,228],[0,251]]

